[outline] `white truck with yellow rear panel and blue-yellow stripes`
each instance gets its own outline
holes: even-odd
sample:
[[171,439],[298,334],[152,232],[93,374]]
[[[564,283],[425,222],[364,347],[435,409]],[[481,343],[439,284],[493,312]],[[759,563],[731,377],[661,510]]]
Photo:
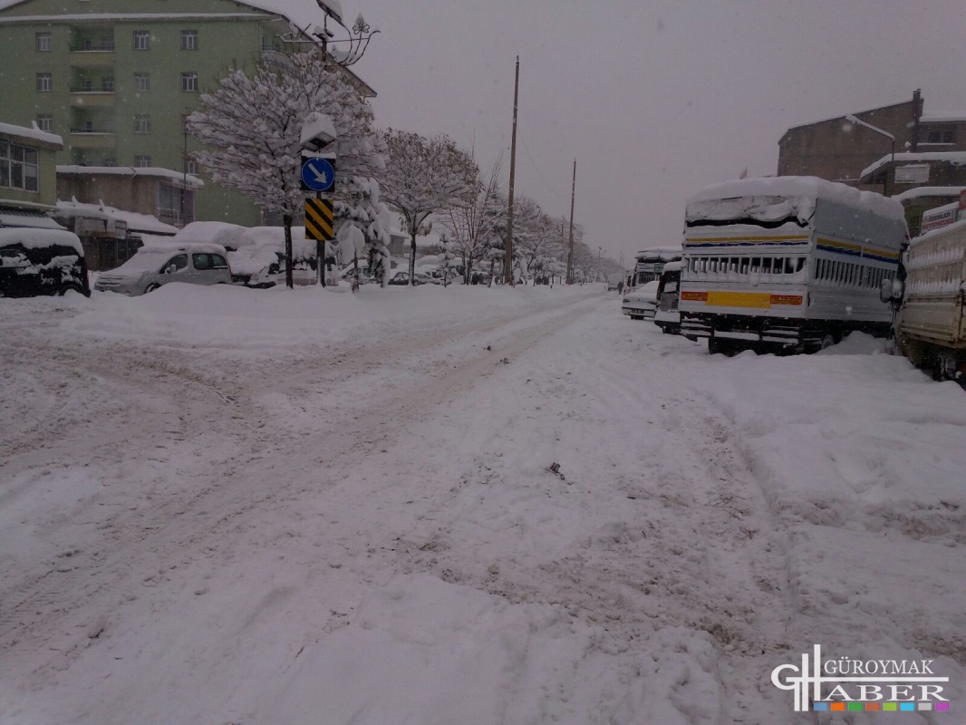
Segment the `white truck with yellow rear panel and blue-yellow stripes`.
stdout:
[[908,233],[902,204],[814,177],[703,189],[685,212],[681,333],[712,353],[811,352],[847,333],[885,336]]

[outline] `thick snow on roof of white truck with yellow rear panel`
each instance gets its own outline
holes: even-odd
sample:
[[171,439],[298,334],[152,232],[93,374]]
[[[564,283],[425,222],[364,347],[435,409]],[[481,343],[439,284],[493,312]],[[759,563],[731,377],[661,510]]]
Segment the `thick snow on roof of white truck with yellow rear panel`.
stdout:
[[[896,154],[896,156],[898,156]],[[822,199],[849,207],[858,207],[879,217],[905,221],[905,211],[901,202],[890,199],[874,191],[860,191],[858,188],[847,187],[844,184],[826,181],[814,176],[775,176],[761,179],[738,179],[736,181],[712,184],[698,191],[688,199],[688,221],[707,218],[727,218],[721,216],[733,212],[727,205],[717,205],[714,202],[729,201],[748,197],[775,197],[785,200],[782,204],[767,205],[767,209],[751,210],[752,216],[757,214],[773,220],[771,217],[781,218],[797,214],[800,219],[808,219],[814,212],[815,201]]]

